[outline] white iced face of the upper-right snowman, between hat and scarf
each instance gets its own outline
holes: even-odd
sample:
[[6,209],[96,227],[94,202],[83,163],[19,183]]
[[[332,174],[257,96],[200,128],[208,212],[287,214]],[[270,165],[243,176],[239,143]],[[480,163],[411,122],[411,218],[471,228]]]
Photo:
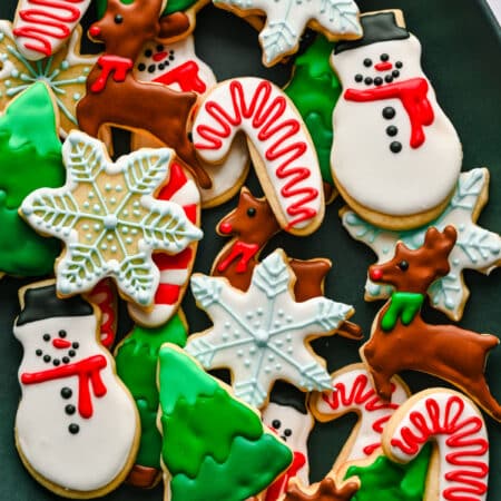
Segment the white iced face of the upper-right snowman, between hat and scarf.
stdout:
[[424,76],[421,43],[412,35],[403,40],[372,43],[338,55],[333,52],[331,65],[346,89],[372,89]]

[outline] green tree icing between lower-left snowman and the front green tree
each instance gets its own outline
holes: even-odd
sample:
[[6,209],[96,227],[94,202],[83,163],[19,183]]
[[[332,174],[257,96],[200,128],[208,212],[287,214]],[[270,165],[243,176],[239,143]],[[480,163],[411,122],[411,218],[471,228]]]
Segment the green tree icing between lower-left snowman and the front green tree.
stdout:
[[161,435],[157,429],[157,361],[160,346],[186,344],[187,331],[179,315],[158,328],[136,325],[119,346],[117,373],[132,394],[141,422],[141,440],[136,464],[160,469]]

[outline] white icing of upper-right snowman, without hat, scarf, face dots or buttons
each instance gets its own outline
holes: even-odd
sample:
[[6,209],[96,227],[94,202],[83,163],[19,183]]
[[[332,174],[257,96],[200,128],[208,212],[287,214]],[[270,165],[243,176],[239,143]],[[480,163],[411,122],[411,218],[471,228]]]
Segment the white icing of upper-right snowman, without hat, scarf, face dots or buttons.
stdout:
[[[392,65],[396,61],[403,65],[394,84],[418,77],[426,79],[420,63],[421,45],[411,36],[333,53],[331,62],[344,91],[375,88],[356,82],[355,75],[384,78],[385,72],[377,75],[374,66],[366,68],[363,63],[365,59],[374,65],[381,62],[382,53],[390,56]],[[355,102],[346,100],[344,94],[340,98],[333,116],[332,171],[356,204],[384,215],[411,216],[435,208],[451,195],[461,169],[461,144],[431,85],[428,99],[434,120],[423,128],[425,141],[412,148],[410,119],[399,99]],[[383,118],[385,107],[394,108],[393,119]],[[396,136],[386,134],[389,126],[397,127]],[[392,141],[401,143],[400,153],[390,150]]]

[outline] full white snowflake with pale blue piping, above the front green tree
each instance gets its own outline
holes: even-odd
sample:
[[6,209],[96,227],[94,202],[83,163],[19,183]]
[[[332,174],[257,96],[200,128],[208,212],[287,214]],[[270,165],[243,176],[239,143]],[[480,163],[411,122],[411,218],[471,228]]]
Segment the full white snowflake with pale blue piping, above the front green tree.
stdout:
[[294,279],[282,250],[256,266],[246,293],[225,278],[191,277],[195,298],[214,326],[189,338],[187,352],[205,369],[229,367],[236,396],[257,407],[277,379],[305,391],[330,389],[331,376],[305,341],[332,334],[353,312],[325,297],[296,303]]

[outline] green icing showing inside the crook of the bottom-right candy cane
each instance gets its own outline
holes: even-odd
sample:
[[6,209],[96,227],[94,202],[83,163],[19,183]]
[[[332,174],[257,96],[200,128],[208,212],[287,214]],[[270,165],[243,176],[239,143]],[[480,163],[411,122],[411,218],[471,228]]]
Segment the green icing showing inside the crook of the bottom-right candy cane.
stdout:
[[351,466],[345,479],[358,477],[361,488],[352,501],[422,501],[432,445],[425,444],[407,464],[380,455],[369,466]]

